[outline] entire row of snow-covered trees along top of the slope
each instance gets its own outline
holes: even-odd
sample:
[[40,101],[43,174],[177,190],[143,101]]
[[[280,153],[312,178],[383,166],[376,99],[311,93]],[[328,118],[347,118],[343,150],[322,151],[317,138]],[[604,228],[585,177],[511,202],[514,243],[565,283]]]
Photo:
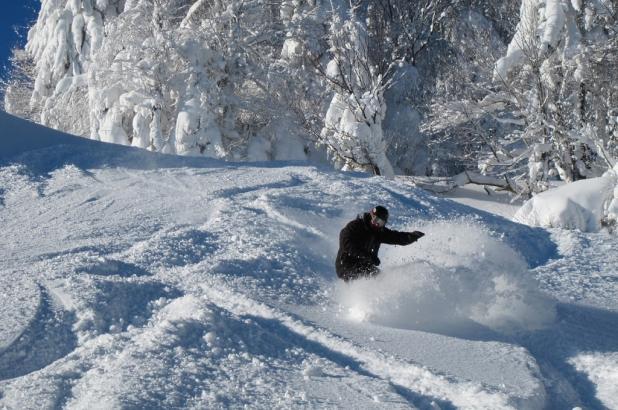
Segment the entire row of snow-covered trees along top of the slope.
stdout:
[[507,177],[618,157],[614,0],[43,0],[5,108],[182,155]]

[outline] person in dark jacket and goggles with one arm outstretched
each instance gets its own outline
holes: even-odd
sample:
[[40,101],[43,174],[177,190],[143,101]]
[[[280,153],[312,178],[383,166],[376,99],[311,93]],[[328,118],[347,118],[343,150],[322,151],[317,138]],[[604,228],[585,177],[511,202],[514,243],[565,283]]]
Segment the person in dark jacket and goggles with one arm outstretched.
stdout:
[[383,243],[409,245],[425,234],[419,231],[399,232],[385,227],[388,210],[376,206],[359,214],[339,233],[339,252],[335,262],[337,276],[344,281],[373,277],[380,273],[378,251]]

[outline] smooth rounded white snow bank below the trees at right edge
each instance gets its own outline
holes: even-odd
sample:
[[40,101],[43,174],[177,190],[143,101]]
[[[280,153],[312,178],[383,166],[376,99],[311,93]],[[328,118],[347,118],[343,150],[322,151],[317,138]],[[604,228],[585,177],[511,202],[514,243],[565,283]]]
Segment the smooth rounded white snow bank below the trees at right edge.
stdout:
[[618,216],[618,176],[609,171],[600,178],[563,185],[534,196],[514,216],[532,226],[596,232]]

